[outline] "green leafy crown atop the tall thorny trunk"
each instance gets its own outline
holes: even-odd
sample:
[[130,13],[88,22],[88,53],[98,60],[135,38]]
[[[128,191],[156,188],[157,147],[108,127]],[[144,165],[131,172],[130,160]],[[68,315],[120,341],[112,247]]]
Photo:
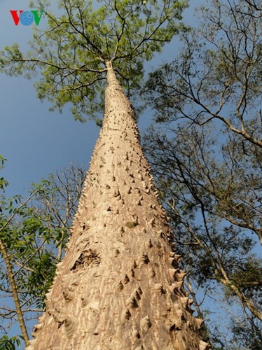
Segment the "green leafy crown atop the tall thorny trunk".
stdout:
[[160,52],[177,34],[181,13],[188,1],[92,1],[62,0],[60,15],[53,15],[48,1],[36,1],[48,20],[44,32],[36,29],[31,50],[23,54],[18,44],[0,52],[0,70],[11,76],[24,73],[36,82],[40,99],[51,109],[71,103],[76,120],[95,117],[104,107],[106,62],[111,62],[120,82],[131,96],[139,87],[144,61]]

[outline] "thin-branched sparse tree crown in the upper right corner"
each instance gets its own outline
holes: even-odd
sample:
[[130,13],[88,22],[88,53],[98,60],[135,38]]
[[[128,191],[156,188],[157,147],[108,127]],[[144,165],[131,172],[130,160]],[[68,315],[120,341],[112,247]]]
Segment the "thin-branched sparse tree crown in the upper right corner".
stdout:
[[200,8],[205,25],[182,36],[179,57],[149,79],[159,121],[218,121],[241,135],[246,147],[262,147],[258,2],[214,0],[211,8]]

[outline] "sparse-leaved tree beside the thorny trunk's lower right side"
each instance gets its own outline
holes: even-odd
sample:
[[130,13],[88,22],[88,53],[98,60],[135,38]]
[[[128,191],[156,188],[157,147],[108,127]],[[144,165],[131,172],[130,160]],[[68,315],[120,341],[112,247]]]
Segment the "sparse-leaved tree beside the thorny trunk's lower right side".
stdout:
[[[259,339],[262,281],[261,262],[253,249],[256,236],[242,225],[228,221],[219,210],[221,197],[228,201],[227,197],[242,195],[240,199],[247,200],[245,195],[249,191],[252,193],[255,177],[252,176],[252,181],[247,181],[249,176],[243,178],[242,170],[246,169],[246,175],[251,170],[248,162],[244,163],[244,158],[237,165],[234,157],[233,162],[228,159],[228,148],[223,149],[225,145],[219,144],[215,134],[217,131],[210,132],[207,127],[203,130],[188,124],[187,128],[183,125],[179,134],[176,129],[176,136],[168,139],[159,130],[152,131],[146,135],[144,149],[150,155],[161,199],[172,218],[176,232],[174,240],[184,257],[184,268],[190,275],[188,290],[196,304],[201,303],[202,294],[221,303],[227,302],[232,308],[239,304],[242,315],[239,314],[233,323],[243,325],[251,321],[244,328],[249,332],[251,328],[256,329],[256,339]],[[240,167],[242,162],[244,167]],[[261,183],[259,179],[256,181]],[[256,207],[258,214],[259,210]],[[202,293],[198,293],[197,297],[195,293],[198,290]],[[231,307],[229,310],[233,312]],[[216,307],[207,308],[210,313],[216,312]],[[201,316],[200,311],[198,314]],[[254,331],[252,334],[254,336]],[[222,331],[221,339],[223,335]],[[223,348],[226,344],[225,340],[222,342]]]

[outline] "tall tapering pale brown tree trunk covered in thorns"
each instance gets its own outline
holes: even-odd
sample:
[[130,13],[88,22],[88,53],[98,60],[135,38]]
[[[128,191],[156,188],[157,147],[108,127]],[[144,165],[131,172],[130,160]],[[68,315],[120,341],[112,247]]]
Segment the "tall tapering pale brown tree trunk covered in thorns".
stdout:
[[107,64],[104,123],[28,349],[206,349],[130,102]]

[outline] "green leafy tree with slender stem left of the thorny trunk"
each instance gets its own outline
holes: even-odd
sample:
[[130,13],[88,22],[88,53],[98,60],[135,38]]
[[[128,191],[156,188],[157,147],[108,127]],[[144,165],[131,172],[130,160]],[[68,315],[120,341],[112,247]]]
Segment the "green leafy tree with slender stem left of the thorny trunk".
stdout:
[[[76,213],[85,171],[80,166],[71,165],[62,172],[50,174],[47,180],[32,186],[27,200],[19,196],[7,199],[4,186],[8,183],[1,179],[0,235],[4,246],[4,251],[1,248],[0,270],[1,333],[4,334],[1,340],[4,349],[13,349],[11,346],[18,338],[8,339],[6,334],[19,316],[23,318],[28,333],[32,320],[43,311],[44,296],[53,281],[55,266],[62,258]],[[13,274],[21,315],[18,315],[15,302],[11,302],[11,298],[15,300],[14,286],[4,253]],[[25,339],[23,332],[22,336]]]

